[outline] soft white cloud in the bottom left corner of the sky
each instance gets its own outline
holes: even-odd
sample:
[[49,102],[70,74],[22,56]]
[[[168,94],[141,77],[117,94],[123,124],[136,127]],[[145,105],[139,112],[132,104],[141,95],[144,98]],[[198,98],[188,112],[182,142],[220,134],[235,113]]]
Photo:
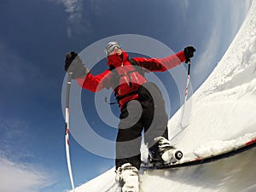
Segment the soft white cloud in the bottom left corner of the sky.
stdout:
[[55,183],[46,172],[0,157],[0,191],[37,192]]

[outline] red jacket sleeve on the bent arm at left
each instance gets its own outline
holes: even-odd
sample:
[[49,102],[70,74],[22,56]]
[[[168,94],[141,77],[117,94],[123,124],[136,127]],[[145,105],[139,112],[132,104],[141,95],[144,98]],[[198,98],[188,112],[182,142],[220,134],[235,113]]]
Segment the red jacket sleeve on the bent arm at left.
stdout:
[[106,70],[96,76],[88,73],[86,77],[77,79],[77,82],[82,88],[93,92],[97,92],[103,88],[109,89],[111,87],[110,73],[110,70]]

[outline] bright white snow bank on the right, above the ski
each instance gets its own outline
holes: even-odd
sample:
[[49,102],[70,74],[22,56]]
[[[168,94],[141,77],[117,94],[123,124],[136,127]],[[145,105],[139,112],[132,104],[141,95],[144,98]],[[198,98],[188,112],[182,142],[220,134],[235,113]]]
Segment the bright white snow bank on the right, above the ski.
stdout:
[[[222,60],[192,96],[191,122],[177,147],[191,151],[201,143],[256,131],[255,4]],[[170,132],[175,131],[179,113],[169,122]]]

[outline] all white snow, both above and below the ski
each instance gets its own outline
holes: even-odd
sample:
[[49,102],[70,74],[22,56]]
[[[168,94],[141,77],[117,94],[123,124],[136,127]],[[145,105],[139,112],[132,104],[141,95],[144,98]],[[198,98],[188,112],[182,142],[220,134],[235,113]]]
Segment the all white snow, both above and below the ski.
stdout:
[[[254,18],[256,18],[255,1],[218,66],[190,98],[193,108],[191,121],[177,138],[177,147],[183,148],[186,153],[193,151],[198,155],[212,153],[212,150],[213,152],[224,150],[239,141],[247,141],[255,137],[256,20]],[[179,117],[180,110],[169,121],[170,132],[177,129]],[[170,189],[224,191],[215,189],[214,186],[205,188],[205,183],[209,181],[199,181],[194,185],[181,182],[187,179],[193,180],[191,175],[195,175],[198,171],[200,168],[199,170],[179,169],[173,172],[146,171],[141,177],[142,189],[150,192],[170,191]],[[76,192],[114,192],[116,191],[114,176],[112,169],[79,186]],[[221,184],[223,183],[218,183]]]

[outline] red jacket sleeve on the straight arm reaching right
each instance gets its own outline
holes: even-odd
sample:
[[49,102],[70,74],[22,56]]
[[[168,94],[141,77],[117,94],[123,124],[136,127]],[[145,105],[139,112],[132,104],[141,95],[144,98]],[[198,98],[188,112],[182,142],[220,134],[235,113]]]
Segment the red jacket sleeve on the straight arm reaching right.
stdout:
[[165,58],[133,58],[138,65],[148,69],[150,72],[165,72],[186,61],[183,51]]

